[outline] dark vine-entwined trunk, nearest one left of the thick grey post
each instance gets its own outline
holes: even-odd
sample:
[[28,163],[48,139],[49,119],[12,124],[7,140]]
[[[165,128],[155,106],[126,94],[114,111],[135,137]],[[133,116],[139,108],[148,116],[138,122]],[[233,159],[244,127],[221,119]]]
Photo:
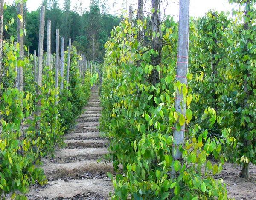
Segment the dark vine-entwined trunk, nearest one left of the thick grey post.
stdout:
[[152,9],[154,12],[152,13],[152,31],[155,32],[155,37],[152,39],[152,49],[154,51],[158,52],[158,55],[151,56],[152,65],[154,66],[154,69],[152,70],[151,74],[151,83],[152,85],[155,85],[159,82],[159,73],[156,69],[156,66],[160,64],[160,40],[159,37],[157,37],[158,34],[160,34],[160,17],[157,11],[160,8],[159,4],[160,0],[152,0]]

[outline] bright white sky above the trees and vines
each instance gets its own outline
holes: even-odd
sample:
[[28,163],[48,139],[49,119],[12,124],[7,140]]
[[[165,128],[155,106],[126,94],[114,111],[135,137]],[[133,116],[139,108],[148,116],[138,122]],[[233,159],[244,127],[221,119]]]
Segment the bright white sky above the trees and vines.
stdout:
[[[13,0],[6,0],[7,3],[12,3]],[[144,0],[144,2],[150,4],[151,0]],[[179,0],[164,0],[165,2],[168,1],[170,4],[167,6],[166,14],[172,14],[177,17],[179,13]],[[64,0],[59,0],[60,6],[62,7]],[[76,7],[76,3],[78,0],[71,0],[71,8]],[[127,7],[131,3],[131,5],[136,9],[137,7],[137,0],[116,0],[117,5],[113,6],[113,0],[107,0],[110,13],[111,14],[120,14],[122,12],[123,6],[127,4]],[[125,2],[125,3],[123,3]],[[175,3],[172,3],[175,2]],[[29,11],[36,10],[42,3],[42,0],[28,0],[27,7]],[[83,0],[83,9],[88,10],[90,4],[90,0]],[[214,9],[218,11],[232,11],[233,6],[228,3],[228,0],[190,0],[190,15],[193,17],[200,17],[205,14],[205,12],[209,11],[209,9]],[[176,18],[175,17],[175,18]]]

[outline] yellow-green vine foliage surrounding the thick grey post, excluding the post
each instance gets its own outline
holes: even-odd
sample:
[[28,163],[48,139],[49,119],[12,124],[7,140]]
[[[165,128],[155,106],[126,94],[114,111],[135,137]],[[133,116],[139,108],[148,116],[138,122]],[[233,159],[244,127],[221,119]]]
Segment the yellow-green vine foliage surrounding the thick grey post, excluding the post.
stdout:
[[[220,173],[225,158],[220,154],[223,139],[210,136],[195,123],[189,125],[195,111],[190,107],[196,95],[190,87],[175,80],[177,62],[177,23],[168,18],[161,24],[162,37],[151,32],[148,21],[138,20],[134,27],[124,20],[111,31],[105,44],[104,79],[102,84],[101,130],[108,133],[108,158],[123,174],[113,178],[113,199],[227,199],[222,180],[212,174]],[[150,43],[137,41],[144,29],[145,41],[159,37],[160,51]],[[151,59],[161,55],[160,64],[152,66]],[[160,80],[151,84],[152,71]],[[187,75],[192,79],[192,74]],[[175,111],[175,92],[182,92],[188,110],[186,116]],[[216,118],[214,109],[205,107],[205,114]],[[176,124],[176,126],[175,126]],[[182,160],[174,160],[172,151],[174,129],[186,124],[186,143],[179,146]],[[224,129],[226,137],[228,129]],[[207,157],[214,155],[219,164],[212,165]]]

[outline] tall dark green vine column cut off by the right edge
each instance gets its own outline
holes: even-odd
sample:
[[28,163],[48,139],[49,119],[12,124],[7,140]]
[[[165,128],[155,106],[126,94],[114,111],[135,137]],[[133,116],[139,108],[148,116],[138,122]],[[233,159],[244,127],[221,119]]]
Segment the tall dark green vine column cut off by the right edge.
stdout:
[[[240,9],[234,11],[236,20],[230,30],[227,69],[231,74],[225,87],[228,99],[222,116],[236,138],[236,143],[230,146],[229,158],[246,169],[248,163],[256,164],[256,1],[230,2],[239,3]],[[241,176],[246,177],[243,173]]]

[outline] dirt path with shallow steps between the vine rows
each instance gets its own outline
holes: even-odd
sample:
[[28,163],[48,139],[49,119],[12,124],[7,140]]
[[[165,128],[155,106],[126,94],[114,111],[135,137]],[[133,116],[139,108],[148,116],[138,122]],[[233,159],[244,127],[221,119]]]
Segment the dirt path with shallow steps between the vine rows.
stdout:
[[113,186],[106,173],[111,163],[97,160],[107,153],[108,140],[99,134],[100,106],[98,90],[92,91],[85,112],[76,128],[66,135],[67,146],[55,152],[54,159],[42,160],[49,183],[32,186],[28,198],[44,200],[105,200]]

